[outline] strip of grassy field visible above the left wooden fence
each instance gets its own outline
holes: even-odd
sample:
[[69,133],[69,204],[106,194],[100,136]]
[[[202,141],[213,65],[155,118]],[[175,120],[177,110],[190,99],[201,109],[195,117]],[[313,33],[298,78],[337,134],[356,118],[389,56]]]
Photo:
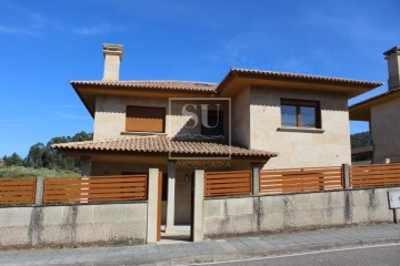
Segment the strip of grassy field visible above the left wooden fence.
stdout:
[[72,177],[80,176],[79,172],[49,168],[31,168],[24,166],[6,166],[0,168],[0,177]]

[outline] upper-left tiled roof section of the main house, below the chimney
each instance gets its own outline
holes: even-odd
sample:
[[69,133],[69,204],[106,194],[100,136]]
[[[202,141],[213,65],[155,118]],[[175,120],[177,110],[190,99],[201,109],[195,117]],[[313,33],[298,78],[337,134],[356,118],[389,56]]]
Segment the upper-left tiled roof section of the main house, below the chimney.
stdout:
[[203,91],[213,92],[217,83],[211,82],[196,82],[196,81],[170,81],[170,80],[147,80],[147,81],[71,81],[72,86],[88,85],[88,86],[120,86],[120,88],[143,88],[143,89],[164,89],[178,91]]

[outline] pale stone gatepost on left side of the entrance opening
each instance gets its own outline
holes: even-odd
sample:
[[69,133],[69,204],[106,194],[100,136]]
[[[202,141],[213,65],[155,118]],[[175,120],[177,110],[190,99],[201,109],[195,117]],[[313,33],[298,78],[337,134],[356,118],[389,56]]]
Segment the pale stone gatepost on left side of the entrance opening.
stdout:
[[147,243],[157,243],[158,176],[158,168],[149,168]]

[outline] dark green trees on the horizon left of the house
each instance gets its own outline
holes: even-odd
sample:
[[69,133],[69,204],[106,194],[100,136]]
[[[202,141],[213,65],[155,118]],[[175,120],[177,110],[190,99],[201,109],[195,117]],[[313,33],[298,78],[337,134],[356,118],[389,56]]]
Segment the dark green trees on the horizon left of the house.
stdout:
[[81,142],[93,140],[92,133],[81,131],[73,136],[56,136],[52,137],[47,144],[37,143],[29,149],[27,157],[22,158],[17,153],[10,156],[3,156],[6,166],[24,166],[31,168],[49,168],[49,170],[63,170],[63,171],[80,171],[80,162],[72,157],[66,156],[54,149],[51,144],[67,143],[67,142]]

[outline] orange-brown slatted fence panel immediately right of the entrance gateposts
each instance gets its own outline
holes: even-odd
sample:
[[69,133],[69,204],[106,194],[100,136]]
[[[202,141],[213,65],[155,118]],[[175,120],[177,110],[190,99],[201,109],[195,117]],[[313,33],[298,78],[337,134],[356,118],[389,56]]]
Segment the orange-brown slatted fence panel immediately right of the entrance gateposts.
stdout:
[[251,195],[251,171],[206,173],[204,195]]

